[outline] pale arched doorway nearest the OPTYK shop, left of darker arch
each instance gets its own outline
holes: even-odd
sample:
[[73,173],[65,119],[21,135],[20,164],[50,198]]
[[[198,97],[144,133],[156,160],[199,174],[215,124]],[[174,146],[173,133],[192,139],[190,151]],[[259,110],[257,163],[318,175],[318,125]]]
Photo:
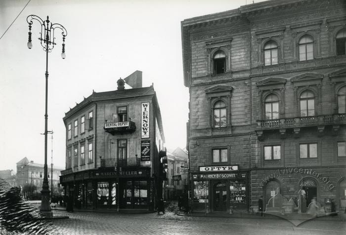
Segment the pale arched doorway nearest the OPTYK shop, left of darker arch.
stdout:
[[280,212],[282,207],[281,183],[271,180],[265,185],[264,210],[266,212]]

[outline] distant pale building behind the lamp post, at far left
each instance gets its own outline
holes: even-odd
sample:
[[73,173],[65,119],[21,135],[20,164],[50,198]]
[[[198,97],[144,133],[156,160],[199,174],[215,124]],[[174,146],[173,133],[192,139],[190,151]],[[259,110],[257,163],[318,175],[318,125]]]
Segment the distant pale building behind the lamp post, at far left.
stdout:
[[[43,169],[44,164],[35,163],[29,161],[27,157],[24,157],[16,163],[16,186],[23,189],[25,185],[36,186],[36,192],[41,192],[43,184]],[[53,195],[60,194],[62,188],[60,188],[60,171],[62,169],[53,165]],[[51,190],[51,165],[48,165],[48,185]]]

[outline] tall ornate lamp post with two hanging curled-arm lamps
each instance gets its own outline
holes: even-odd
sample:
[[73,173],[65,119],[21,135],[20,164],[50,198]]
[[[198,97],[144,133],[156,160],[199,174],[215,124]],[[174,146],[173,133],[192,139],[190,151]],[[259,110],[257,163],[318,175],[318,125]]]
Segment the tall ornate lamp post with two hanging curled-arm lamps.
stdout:
[[62,31],[62,53],[61,57],[65,59],[65,37],[67,36],[66,29],[60,24],[52,24],[49,21],[47,16],[46,20],[42,20],[37,15],[29,15],[27,17],[27,22],[29,24],[29,40],[28,40],[28,48],[31,49],[33,44],[31,42],[31,26],[33,24],[33,20],[37,20],[41,24],[41,33],[39,40],[41,41],[41,45],[43,50],[45,51],[45,114],[44,114],[44,173],[43,173],[43,185],[41,191],[41,208],[40,211],[46,217],[52,217],[52,212],[49,204],[49,185],[48,185],[48,177],[47,177],[47,126],[48,126],[48,115],[47,115],[47,101],[48,101],[48,52],[54,48],[55,38],[54,31],[55,29],[60,29]]

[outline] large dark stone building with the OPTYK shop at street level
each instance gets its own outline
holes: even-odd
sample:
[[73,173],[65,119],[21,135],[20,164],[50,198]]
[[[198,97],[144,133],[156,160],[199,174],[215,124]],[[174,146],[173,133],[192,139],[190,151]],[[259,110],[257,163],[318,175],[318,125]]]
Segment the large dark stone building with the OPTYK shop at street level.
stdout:
[[345,211],[345,15],[271,0],[181,22],[194,211]]

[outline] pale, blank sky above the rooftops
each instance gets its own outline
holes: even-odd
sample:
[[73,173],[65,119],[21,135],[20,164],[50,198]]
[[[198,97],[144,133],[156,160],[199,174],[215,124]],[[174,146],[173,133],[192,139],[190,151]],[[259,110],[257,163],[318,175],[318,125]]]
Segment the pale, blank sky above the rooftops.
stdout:
[[[0,37],[29,0],[0,0]],[[260,0],[255,0],[259,2]],[[183,84],[180,22],[238,8],[252,0],[31,0],[0,39],[0,170],[13,169],[24,157],[44,163],[45,52],[41,28],[28,15],[49,16],[67,30],[66,59],[60,32],[48,54],[47,163],[65,166],[62,118],[95,92],[117,88],[116,81],[136,70],[143,86],[154,83],[166,147],[186,146],[188,88]]]

